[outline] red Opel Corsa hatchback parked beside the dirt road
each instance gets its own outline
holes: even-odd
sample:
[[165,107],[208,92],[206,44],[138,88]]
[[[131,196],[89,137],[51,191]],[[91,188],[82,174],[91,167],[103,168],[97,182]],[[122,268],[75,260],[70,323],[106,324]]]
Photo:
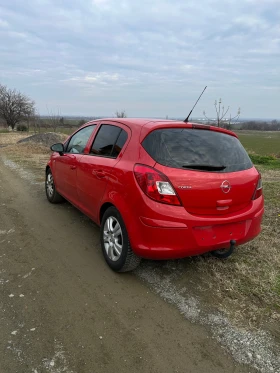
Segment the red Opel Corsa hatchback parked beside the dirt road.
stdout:
[[66,199],[101,226],[115,271],[134,269],[140,258],[226,257],[261,231],[261,176],[233,132],[102,119],[51,149],[48,200]]

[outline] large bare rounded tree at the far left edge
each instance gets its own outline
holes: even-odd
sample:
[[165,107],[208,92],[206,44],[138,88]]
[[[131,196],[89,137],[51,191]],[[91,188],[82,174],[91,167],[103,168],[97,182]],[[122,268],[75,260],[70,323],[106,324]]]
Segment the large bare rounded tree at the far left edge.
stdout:
[[0,84],[0,118],[14,130],[21,121],[33,115],[35,103],[28,96]]

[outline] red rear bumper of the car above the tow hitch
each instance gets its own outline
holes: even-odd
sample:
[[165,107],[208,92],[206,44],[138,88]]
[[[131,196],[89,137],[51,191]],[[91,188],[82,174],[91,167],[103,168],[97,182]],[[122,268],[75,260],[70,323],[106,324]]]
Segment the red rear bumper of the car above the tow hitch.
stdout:
[[[158,204],[157,204],[158,205]],[[151,202],[150,202],[150,207]],[[228,217],[197,217],[177,206],[167,215],[137,219],[137,229],[130,235],[135,253],[147,259],[176,259],[227,248],[254,239],[261,232],[263,197],[252,201],[250,208]],[[163,208],[163,207],[162,207]]]

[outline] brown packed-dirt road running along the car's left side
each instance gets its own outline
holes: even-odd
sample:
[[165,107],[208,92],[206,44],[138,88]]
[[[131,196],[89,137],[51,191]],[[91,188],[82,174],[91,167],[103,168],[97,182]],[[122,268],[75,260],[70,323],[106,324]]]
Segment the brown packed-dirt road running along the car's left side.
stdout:
[[1,158],[0,296],[0,373],[253,371],[139,276],[113,273],[99,229]]

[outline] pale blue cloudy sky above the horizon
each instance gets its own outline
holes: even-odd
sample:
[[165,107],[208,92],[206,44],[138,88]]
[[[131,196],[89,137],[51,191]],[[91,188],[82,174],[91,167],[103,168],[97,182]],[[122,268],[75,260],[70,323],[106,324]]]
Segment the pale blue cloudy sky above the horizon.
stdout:
[[0,0],[0,83],[41,114],[280,119],[280,0]]

